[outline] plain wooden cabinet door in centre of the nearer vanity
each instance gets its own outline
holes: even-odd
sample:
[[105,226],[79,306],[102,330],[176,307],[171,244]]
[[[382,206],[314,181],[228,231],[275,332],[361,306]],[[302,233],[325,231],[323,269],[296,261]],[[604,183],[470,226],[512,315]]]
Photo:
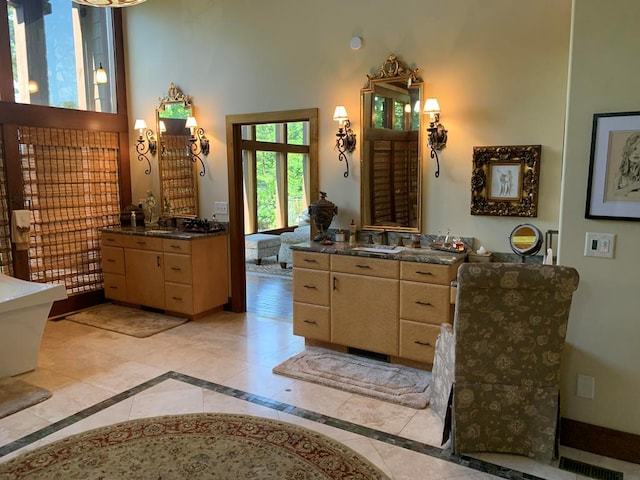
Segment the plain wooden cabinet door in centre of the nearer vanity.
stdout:
[[331,341],[398,355],[399,280],[331,274]]

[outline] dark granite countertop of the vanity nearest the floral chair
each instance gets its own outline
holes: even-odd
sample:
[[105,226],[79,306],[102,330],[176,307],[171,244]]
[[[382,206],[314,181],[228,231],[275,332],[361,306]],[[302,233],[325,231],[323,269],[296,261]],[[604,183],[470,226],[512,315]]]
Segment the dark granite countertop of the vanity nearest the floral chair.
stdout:
[[[292,250],[316,253],[333,253],[336,255],[353,255],[358,257],[384,258],[387,260],[402,260],[405,262],[435,263],[438,265],[455,265],[463,261],[467,254],[445,252],[433,248],[393,247],[390,245],[356,244],[348,242],[334,242],[331,245],[323,245],[319,242],[306,242],[291,245]],[[376,250],[385,250],[377,252]],[[372,251],[374,250],[374,251]]]

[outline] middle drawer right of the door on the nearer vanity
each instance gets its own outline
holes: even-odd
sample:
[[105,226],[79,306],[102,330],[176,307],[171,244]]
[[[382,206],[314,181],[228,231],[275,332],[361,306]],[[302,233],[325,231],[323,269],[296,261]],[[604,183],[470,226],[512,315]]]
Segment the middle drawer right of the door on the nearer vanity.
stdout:
[[400,282],[400,318],[440,325],[449,321],[449,287],[419,282]]

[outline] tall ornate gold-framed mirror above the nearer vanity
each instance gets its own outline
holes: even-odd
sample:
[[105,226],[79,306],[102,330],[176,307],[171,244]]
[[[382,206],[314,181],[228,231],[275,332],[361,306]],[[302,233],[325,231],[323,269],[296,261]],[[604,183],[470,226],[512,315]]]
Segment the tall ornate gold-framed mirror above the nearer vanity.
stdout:
[[361,222],[364,229],[420,232],[422,80],[395,55],[361,91]]

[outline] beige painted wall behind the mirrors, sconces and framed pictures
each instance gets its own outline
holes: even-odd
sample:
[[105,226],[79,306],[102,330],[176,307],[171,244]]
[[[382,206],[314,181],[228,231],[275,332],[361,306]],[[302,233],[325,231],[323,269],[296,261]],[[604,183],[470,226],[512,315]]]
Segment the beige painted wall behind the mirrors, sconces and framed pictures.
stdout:
[[[560,260],[581,275],[563,362],[562,414],[640,434],[633,241],[640,223],[584,219],[593,113],[640,110],[640,2],[575,0],[571,60],[570,3],[149,0],[125,10],[129,116],[132,124],[143,116],[151,125],[172,81],[193,96],[212,140],[200,184],[201,216],[210,216],[213,202],[228,196],[225,115],[318,107],[320,187],[339,206],[333,226],[346,227],[359,217],[359,150],[345,179],[333,149],[333,109],[345,104],[359,133],[365,75],[389,53],[420,67],[449,130],[439,179],[425,160],[424,232],[451,229],[506,252],[518,223],[560,227]],[[349,49],[353,35],[363,37],[362,50]],[[538,218],[471,216],[473,146],[518,144],[543,146]],[[131,158],[133,198],[147,188],[157,192],[157,164],[147,177]],[[586,231],[617,233],[616,258],[584,258]],[[575,396],[577,373],[596,378],[594,400]]]

